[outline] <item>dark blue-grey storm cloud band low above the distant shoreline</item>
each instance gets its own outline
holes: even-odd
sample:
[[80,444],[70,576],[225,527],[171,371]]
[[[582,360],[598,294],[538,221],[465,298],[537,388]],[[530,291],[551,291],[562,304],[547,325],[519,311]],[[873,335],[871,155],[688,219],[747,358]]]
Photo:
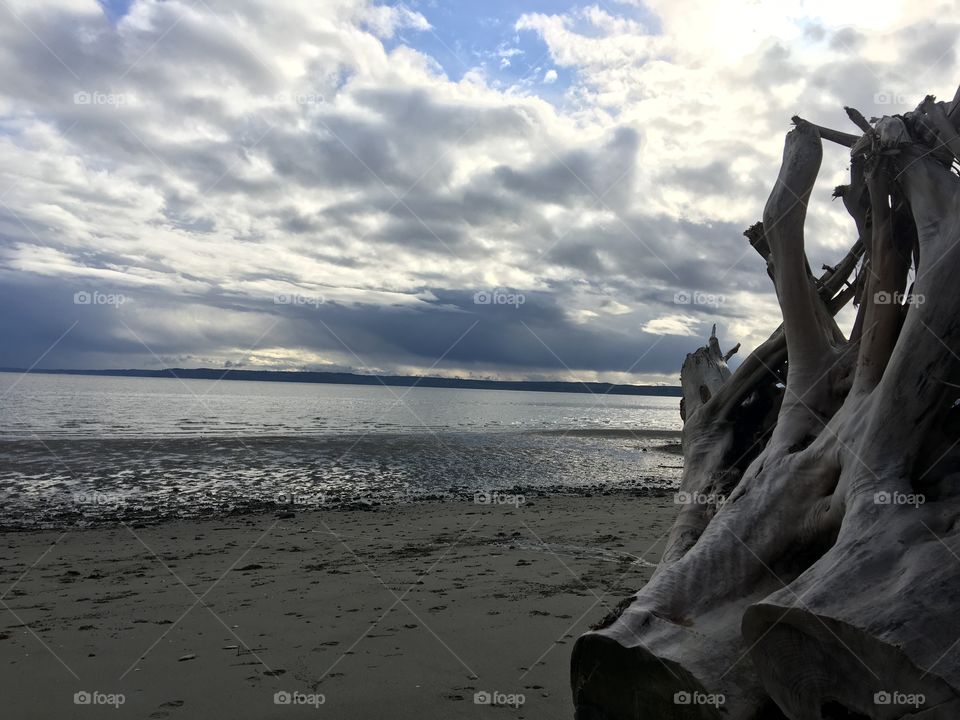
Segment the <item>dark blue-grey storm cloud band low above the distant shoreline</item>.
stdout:
[[[40,366],[47,368],[102,366],[106,358],[113,358],[108,367],[156,367],[163,361],[195,360],[259,344],[341,353],[355,366],[388,371],[403,364],[430,367],[444,358],[438,370],[627,372],[644,356],[646,372],[672,374],[678,354],[699,343],[694,338],[611,330],[599,323],[572,323],[557,297],[549,294],[527,296],[519,307],[477,305],[473,293],[442,290],[435,291],[436,302],[420,309],[335,303],[292,308],[269,300],[231,301],[222,295],[205,298],[199,307],[189,299],[175,304],[169,296],[146,290],[120,292],[102,281],[24,282],[9,275],[3,280],[0,333],[9,342],[0,348],[0,367],[22,366],[24,358],[32,364],[44,353]],[[76,293],[117,294],[124,299],[119,305],[106,300],[77,304]],[[242,330],[208,328],[200,336],[184,332],[193,315],[202,317],[209,307],[246,313],[248,323]],[[182,324],[143,332],[138,317],[144,312],[180,313]]]

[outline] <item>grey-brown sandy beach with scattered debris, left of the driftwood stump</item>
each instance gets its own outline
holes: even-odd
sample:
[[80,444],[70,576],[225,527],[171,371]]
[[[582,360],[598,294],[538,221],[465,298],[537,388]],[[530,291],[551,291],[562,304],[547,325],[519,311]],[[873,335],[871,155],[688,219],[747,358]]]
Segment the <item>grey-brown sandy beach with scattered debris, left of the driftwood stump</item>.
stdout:
[[498,500],[5,533],[3,716],[571,717],[673,496]]

